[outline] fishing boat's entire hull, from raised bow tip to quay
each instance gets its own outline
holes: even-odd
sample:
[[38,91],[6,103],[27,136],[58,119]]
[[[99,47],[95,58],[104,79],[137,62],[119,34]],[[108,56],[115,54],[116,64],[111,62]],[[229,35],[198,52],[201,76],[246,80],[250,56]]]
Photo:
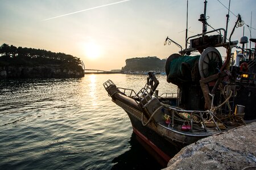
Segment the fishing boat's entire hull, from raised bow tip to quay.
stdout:
[[[179,124],[168,126],[164,117],[161,117],[161,115],[164,116],[162,112],[155,114],[158,116],[158,120],[147,118],[141,102],[120,92],[112,82],[106,86],[106,91],[112,97],[112,101],[128,114],[138,141],[164,167],[184,146],[195,143],[201,138],[220,133],[220,131],[210,129],[208,131],[182,131]],[[150,103],[150,105],[151,107],[156,106],[154,103]]]

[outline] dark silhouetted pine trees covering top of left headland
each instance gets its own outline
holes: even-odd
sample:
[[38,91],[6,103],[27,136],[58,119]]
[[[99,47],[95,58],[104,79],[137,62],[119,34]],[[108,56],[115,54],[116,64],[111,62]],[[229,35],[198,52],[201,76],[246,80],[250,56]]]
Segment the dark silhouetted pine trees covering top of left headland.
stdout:
[[63,69],[82,71],[80,58],[64,53],[54,53],[44,49],[22,48],[2,44],[0,46],[0,66],[42,66],[59,65]]

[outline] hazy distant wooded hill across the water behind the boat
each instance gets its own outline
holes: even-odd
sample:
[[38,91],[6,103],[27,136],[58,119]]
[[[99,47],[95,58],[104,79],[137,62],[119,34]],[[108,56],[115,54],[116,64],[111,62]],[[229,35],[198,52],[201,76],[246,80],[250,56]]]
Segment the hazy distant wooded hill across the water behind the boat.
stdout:
[[126,59],[126,66],[121,71],[157,71],[165,72],[166,59],[158,57],[142,57]]

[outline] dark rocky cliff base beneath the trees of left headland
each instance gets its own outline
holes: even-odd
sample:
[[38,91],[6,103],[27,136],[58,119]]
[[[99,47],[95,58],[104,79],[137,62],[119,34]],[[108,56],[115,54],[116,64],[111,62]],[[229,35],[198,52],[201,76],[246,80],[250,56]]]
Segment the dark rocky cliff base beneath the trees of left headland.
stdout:
[[0,67],[0,78],[80,78],[83,71],[61,69],[60,66]]

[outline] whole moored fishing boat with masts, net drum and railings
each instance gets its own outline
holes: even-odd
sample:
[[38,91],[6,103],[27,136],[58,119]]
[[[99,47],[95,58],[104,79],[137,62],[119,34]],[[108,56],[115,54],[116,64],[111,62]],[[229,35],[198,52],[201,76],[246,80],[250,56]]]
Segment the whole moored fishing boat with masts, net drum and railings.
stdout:
[[[238,41],[231,41],[231,37],[242,24],[241,16],[238,14],[227,37],[229,16],[226,29],[207,32],[206,8],[207,1],[199,19],[202,33],[191,37],[186,33],[184,49],[166,38],[166,44],[173,42],[181,48],[166,61],[167,82],[177,86],[176,94],[159,95],[159,81],[152,72],[139,92],[119,88],[112,80],[103,84],[112,101],[128,114],[139,141],[161,164],[167,165],[174,149],[244,125],[245,113],[254,112],[247,118],[255,118],[255,55],[250,53],[250,60],[245,61],[237,55],[236,63],[232,63],[232,48]],[[226,49],[224,62],[218,47]],[[192,52],[200,55],[191,56]]]

